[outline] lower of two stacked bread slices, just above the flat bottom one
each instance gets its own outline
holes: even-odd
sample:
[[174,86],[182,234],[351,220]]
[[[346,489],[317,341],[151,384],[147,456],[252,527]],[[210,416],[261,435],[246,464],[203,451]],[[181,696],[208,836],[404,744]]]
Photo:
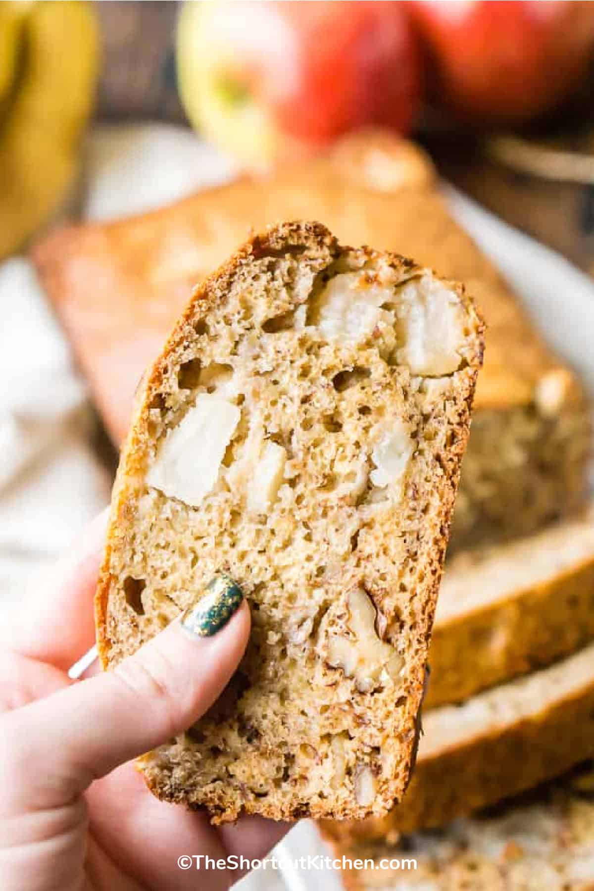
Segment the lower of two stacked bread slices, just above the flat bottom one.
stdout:
[[539,672],[423,715],[417,764],[387,817],[326,822],[346,843],[443,826],[568,770],[594,752],[594,643]]

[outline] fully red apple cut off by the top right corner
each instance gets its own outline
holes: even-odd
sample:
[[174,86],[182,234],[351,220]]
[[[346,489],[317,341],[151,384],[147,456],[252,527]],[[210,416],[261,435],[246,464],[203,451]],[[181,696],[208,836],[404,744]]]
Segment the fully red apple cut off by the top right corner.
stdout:
[[409,6],[435,56],[435,97],[463,119],[533,119],[577,86],[592,58],[594,3],[416,0]]

